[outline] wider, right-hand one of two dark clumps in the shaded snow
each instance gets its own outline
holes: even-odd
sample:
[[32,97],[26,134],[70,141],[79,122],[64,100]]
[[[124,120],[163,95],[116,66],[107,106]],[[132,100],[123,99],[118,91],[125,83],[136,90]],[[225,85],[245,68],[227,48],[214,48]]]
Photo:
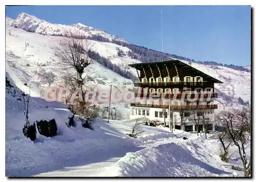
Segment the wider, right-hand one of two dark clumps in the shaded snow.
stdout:
[[46,137],[57,135],[57,124],[54,119],[49,122],[46,120],[36,121],[38,132]]

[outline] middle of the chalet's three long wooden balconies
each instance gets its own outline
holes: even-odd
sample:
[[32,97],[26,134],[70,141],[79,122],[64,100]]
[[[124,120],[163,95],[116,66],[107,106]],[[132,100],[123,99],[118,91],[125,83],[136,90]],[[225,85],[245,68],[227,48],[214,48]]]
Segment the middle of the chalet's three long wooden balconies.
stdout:
[[[152,95],[155,98],[161,98],[163,95],[163,97],[165,99],[173,99],[176,96],[176,99],[180,99],[182,98],[182,94],[152,94],[152,93],[135,93],[135,97],[140,97],[140,98],[149,98],[150,95]],[[205,94],[205,93],[198,93],[198,94],[184,94],[184,98],[187,99],[190,96],[190,99],[194,99],[196,97],[196,95],[198,95],[198,99],[200,99],[201,97],[203,98],[208,98],[208,96],[210,95],[210,98],[218,98],[218,94],[217,93],[209,93],[209,94]],[[203,95],[203,96],[202,96]]]

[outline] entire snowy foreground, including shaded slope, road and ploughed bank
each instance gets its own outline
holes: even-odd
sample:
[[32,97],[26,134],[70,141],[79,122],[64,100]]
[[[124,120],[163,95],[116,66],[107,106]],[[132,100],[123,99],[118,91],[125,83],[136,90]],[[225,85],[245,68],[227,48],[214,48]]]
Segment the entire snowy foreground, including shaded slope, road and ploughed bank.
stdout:
[[[46,138],[37,131],[31,142],[24,137],[23,113],[14,89],[20,83],[14,73],[6,73],[14,86],[6,87],[6,176],[232,176],[218,157],[219,145],[196,134],[141,125],[144,132],[130,138],[134,122],[96,120],[94,130],[68,128],[72,113],[58,102],[32,97],[29,121],[55,119],[57,135]],[[15,80],[14,80],[14,79]],[[10,92],[11,91],[11,92]],[[189,140],[183,141],[187,137]],[[239,172],[237,172],[239,173]],[[242,176],[241,172],[239,173]]]

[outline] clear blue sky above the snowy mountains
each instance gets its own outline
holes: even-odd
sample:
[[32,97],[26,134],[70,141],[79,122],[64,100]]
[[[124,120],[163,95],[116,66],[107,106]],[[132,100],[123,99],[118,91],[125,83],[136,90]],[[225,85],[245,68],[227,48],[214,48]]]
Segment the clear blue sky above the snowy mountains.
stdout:
[[54,24],[80,22],[162,51],[161,9],[165,53],[250,64],[250,6],[21,6],[6,7],[6,15],[26,12]]

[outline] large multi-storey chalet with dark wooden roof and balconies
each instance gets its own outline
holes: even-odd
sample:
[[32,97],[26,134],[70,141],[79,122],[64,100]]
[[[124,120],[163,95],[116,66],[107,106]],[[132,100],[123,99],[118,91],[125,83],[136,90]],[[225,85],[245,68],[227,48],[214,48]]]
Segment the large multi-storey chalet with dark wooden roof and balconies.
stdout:
[[198,118],[208,117],[208,130],[214,130],[214,84],[221,81],[180,60],[129,66],[137,70],[139,82],[134,85],[141,90],[131,103],[131,119],[165,120],[167,125],[172,121],[174,128],[192,132],[204,130]]

